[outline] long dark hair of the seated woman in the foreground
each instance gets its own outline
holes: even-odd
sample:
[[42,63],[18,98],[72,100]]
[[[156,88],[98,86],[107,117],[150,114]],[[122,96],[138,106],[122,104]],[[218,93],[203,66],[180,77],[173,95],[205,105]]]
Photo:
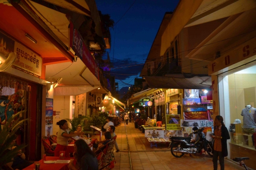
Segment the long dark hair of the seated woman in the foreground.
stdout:
[[77,151],[76,151],[76,159],[78,162],[81,162],[81,158],[85,155],[85,153],[90,153],[93,157],[95,157],[95,153],[90,149],[87,143],[83,139],[79,139],[75,142]]

